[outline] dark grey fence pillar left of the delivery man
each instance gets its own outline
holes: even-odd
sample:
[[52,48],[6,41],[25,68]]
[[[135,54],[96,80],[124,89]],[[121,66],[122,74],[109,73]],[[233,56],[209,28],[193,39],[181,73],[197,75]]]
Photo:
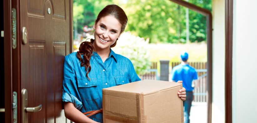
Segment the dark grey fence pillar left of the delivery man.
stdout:
[[169,81],[169,61],[161,60],[160,67],[160,80]]

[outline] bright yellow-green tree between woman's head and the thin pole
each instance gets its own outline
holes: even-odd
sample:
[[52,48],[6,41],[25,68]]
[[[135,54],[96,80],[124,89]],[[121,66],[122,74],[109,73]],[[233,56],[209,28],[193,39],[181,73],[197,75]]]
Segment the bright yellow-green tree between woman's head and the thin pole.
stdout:
[[[170,1],[133,0],[123,5],[128,16],[126,30],[140,37],[149,38],[151,43],[179,42],[181,30],[184,28],[184,13],[179,5]],[[182,23],[181,23],[182,22]]]

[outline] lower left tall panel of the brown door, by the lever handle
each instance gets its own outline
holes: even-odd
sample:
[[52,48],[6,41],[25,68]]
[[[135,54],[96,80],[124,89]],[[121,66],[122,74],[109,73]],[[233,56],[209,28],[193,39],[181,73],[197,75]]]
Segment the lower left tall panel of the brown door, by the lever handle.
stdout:
[[[45,85],[46,85],[46,61],[45,61],[45,41],[43,40],[29,40],[29,50],[24,52],[28,57],[28,71],[24,71],[27,82],[22,82],[24,87],[28,90],[28,106],[35,107],[39,104],[45,105]],[[32,92],[32,93],[31,93]],[[33,98],[31,98],[33,97]],[[37,113],[30,113],[28,118],[38,123],[45,122],[46,107]],[[38,119],[38,120],[37,120]]]

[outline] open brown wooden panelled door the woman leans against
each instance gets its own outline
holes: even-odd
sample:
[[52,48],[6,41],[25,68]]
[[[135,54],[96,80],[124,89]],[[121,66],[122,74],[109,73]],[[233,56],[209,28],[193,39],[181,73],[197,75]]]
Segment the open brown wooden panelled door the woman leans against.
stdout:
[[[72,2],[19,0],[20,39],[22,28],[27,29],[27,43],[17,41],[20,45],[19,90],[27,89],[28,107],[42,104],[39,112],[28,113],[30,123],[66,122],[62,81],[64,56],[71,52]],[[22,114],[22,104],[19,109]],[[22,121],[22,115],[19,117]]]

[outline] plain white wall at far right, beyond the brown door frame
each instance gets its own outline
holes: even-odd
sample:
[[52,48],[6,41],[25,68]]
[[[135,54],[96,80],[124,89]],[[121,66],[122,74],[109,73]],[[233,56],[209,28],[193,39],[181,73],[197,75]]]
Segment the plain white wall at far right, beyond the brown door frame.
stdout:
[[256,5],[256,0],[234,0],[233,123],[257,123]]

